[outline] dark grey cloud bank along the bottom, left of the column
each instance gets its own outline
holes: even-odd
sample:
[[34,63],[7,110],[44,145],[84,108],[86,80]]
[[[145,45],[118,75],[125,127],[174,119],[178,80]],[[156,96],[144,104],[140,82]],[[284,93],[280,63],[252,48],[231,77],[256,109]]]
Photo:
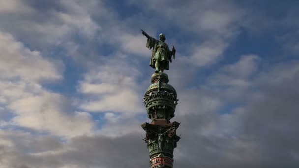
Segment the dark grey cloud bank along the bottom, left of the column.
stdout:
[[[11,136],[1,135],[2,138],[8,139]],[[51,137],[36,138],[23,134],[19,135],[19,138],[28,141],[44,139],[43,143],[36,143],[34,146],[39,149],[51,148],[51,150],[28,152],[19,146],[20,144],[26,145],[25,140],[12,144],[18,146],[2,146],[0,165],[3,168],[140,168],[149,166],[146,144],[137,134],[128,134],[118,138],[81,136],[70,139],[67,144],[59,140],[53,141]],[[60,147],[57,148],[57,145]]]

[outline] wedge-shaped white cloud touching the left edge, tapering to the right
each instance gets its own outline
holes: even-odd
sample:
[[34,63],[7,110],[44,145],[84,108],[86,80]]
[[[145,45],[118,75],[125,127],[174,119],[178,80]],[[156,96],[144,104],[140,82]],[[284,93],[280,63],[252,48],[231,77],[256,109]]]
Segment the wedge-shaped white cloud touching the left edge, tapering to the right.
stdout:
[[0,78],[23,80],[59,79],[61,62],[55,64],[38,51],[30,51],[10,34],[0,32]]

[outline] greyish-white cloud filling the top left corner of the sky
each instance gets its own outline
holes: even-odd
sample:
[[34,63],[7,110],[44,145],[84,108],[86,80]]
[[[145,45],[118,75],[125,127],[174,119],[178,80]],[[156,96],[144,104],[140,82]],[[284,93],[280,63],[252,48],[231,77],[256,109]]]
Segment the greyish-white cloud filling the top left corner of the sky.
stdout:
[[101,30],[89,12],[92,4],[93,8],[96,7],[96,1],[47,2],[47,7],[42,9],[32,5],[35,2],[10,0],[2,3],[1,31],[12,34],[40,51],[46,50],[48,45],[63,45],[73,33],[92,39]]

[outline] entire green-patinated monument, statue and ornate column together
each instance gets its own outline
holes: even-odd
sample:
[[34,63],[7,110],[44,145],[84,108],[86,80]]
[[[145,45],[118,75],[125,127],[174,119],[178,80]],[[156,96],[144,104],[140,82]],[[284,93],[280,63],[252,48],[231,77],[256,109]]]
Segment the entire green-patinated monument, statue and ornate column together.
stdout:
[[[149,149],[151,168],[172,168],[174,148],[180,137],[176,134],[179,123],[171,123],[170,119],[174,117],[178,99],[176,90],[168,84],[168,75],[163,70],[169,70],[169,62],[172,56],[175,58],[176,51],[173,46],[172,51],[169,50],[164,34],[160,34],[160,40],[150,37],[144,31],[142,34],[148,38],[146,47],[153,49],[150,66],[156,69],[143,100],[148,118],[152,121],[152,124],[141,125],[146,131],[143,140]],[[164,157],[168,158],[168,163],[164,162]]]

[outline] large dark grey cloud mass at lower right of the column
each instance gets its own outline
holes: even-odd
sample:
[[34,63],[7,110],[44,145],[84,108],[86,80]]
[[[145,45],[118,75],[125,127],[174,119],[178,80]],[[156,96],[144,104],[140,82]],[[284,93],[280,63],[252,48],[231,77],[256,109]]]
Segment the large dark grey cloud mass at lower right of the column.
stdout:
[[[178,157],[178,165],[298,167],[298,67],[298,62],[286,63],[260,73],[251,81],[259,95],[244,92],[251,94],[251,98],[246,99],[245,106],[239,110],[222,115],[211,110],[202,115],[205,106],[194,104],[197,114],[185,113],[176,118],[182,122],[179,130],[183,134],[176,154],[185,154]],[[199,98],[205,96],[200,91],[193,91],[193,94],[197,93],[202,94]],[[207,134],[205,130],[209,129]]]

